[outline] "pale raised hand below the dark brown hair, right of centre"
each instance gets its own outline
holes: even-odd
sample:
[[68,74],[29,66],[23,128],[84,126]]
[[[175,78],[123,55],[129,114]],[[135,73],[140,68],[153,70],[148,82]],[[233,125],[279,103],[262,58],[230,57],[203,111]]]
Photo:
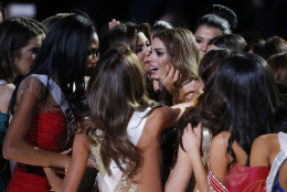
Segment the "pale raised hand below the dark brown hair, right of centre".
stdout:
[[182,143],[191,160],[201,156],[201,124],[195,128],[192,128],[191,124],[188,124],[188,127],[184,129]]

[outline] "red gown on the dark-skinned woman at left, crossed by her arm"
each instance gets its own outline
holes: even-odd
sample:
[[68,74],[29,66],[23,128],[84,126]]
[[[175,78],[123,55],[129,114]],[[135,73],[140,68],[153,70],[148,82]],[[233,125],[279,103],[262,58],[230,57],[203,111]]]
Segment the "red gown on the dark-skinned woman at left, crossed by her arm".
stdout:
[[[62,152],[67,138],[66,118],[61,108],[41,106],[33,116],[25,141],[40,149]],[[7,192],[51,191],[42,167],[17,163]]]

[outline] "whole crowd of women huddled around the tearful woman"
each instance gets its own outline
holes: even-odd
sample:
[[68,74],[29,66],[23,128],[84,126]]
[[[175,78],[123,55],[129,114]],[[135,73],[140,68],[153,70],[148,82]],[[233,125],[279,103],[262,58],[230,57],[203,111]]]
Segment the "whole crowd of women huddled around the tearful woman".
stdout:
[[[1,19],[1,17],[0,17]],[[0,191],[287,191],[287,42],[221,4],[195,29],[0,23]]]

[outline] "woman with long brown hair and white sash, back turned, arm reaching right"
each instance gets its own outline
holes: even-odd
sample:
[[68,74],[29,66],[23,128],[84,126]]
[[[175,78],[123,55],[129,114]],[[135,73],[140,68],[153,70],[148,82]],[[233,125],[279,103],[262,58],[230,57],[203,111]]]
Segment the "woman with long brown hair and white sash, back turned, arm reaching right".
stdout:
[[75,136],[64,181],[45,169],[53,190],[76,191],[92,153],[100,191],[161,191],[160,134],[193,103],[169,108],[149,100],[142,68],[127,46],[116,46],[100,56],[88,83],[87,99],[89,122]]

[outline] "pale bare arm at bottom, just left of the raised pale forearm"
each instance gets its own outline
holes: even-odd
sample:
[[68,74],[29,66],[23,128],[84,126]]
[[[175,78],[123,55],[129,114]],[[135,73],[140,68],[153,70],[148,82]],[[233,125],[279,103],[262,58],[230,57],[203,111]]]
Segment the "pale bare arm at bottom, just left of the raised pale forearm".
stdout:
[[179,147],[178,160],[166,183],[166,192],[184,192],[192,175],[192,164],[187,152]]

